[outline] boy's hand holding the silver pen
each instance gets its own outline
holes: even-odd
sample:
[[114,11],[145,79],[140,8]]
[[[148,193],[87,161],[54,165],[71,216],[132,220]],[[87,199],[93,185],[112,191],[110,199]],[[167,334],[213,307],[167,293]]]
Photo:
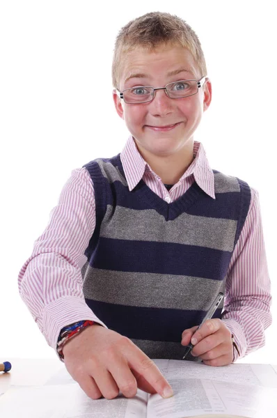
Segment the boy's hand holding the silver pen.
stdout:
[[[191,355],[200,357],[209,366],[232,363],[232,334],[223,321],[219,318],[208,319],[199,330],[197,328],[192,327],[182,332],[182,346],[188,346],[191,342],[194,346]],[[192,335],[197,340],[196,343],[191,339]]]

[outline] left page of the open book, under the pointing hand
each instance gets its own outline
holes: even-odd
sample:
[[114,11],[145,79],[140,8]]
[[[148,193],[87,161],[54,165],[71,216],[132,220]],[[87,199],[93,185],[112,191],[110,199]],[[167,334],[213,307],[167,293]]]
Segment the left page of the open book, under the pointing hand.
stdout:
[[0,398],[5,418],[146,418],[148,394],[90,399],[78,384],[10,387]]

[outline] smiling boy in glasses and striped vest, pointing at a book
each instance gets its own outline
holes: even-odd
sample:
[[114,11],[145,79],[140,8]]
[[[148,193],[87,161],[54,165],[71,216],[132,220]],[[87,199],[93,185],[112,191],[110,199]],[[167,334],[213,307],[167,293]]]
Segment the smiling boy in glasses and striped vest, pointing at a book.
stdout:
[[[193,141],[212,86],[183,20],[148,13],[124,26],[113,86],[131,136],[122,153],[72,171],[19,290],[88,396],[140,387],[168,397],[150,357],[182,359],[191,341],[192,356],[223,366],[264,345],[258,192],[212,170]],[[224,304],[196,331],[221,291]]]

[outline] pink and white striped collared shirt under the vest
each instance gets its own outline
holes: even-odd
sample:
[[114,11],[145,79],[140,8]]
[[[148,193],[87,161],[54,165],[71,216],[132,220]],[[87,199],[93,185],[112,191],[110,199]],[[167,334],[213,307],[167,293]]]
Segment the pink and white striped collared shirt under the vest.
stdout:
[[[193,161],[169,191],[143,160],[132,136],[120,157],[129,190],[143,178],[153,192],[170,203],[196,181],[215,199],[214,174],[203,144],[198,141],[194,141]],[[47,342],[55,349],[58,334],[70,323],[88,319],[106,326],[88,308],[82,291],[84,251],[94,229],[93,183],[86,168],[74,169],[58,205],[50,212],[45,231],[35,241],[33,252],[18,277],[22,299]],[[228,267],[222,318],[235,336],[239,357],[264,346],[264,330],[272,322],[270,288],[258,192],[251,187],[248,215]]]

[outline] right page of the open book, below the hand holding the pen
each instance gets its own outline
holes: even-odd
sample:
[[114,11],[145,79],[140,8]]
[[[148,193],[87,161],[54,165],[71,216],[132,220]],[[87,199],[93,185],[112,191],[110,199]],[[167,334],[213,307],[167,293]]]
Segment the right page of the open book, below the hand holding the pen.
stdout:
[[193,378],[169,379],[169,382],[174,396],[163,399],[151,395],[147,418],[277,416],[276,388]]

